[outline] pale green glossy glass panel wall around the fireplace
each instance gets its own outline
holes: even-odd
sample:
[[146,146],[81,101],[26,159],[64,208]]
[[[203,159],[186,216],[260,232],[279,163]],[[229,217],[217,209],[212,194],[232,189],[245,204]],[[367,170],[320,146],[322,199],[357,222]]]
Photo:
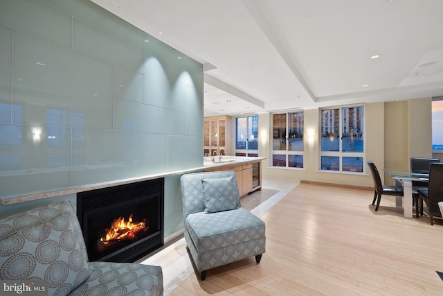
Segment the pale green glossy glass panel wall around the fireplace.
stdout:
[[199,62],[88,0],[0,7],[0,197],[202,165]]

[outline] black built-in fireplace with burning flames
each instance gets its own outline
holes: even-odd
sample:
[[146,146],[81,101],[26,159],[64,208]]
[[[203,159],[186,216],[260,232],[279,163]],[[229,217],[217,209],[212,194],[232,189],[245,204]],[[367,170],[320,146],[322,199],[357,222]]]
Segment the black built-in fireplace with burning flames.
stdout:
[[[163,246],[163,195],[163,178],[77,193],[77,216],[89,260],[134,262]],[[119,237],[107,241],[116,220],[128,226],[114,231]]]

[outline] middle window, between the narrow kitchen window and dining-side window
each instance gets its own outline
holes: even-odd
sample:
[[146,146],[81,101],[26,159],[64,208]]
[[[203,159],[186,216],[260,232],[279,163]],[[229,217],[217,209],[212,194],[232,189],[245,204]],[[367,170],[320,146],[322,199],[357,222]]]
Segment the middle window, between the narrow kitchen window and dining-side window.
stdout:
[[273,114],[272,166],[303,168],[303,112]]

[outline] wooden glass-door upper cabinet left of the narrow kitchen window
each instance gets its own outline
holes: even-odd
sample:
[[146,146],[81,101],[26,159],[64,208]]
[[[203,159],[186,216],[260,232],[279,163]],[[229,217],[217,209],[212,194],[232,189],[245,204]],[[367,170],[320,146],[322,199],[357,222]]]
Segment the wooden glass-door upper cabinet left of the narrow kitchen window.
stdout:
[[205,117],[203,124],[204,156],[232,155],[230,116]]

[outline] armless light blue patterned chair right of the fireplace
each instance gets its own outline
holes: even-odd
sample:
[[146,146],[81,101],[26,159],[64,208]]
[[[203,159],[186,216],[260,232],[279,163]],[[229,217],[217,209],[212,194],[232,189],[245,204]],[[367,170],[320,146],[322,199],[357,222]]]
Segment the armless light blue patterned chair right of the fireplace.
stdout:
[[181,196],[184,236],[202,281],[217,266],[251,256],[260,263],[265,225],[241,207],[235,172],[183,175]]

